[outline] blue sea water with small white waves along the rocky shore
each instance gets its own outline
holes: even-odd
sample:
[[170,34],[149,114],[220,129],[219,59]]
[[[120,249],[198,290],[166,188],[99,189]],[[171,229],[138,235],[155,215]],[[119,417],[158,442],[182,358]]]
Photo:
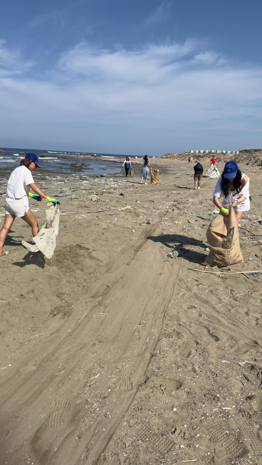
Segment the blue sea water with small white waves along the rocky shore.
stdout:
[[[33,150],[33,149],[24,149],[24,148],[8,148],[0,147],[3,152],[0,152],[0,170],[1,169],[10,169],[10,172],[13,171],[17,166],[19,166],[20,159],[23,158],[21,153],[34,152],[42,155],[48,155],[47,158],[39,158],[39,162],[42,168],[45,171],[50,171],[52,173],[74,173],[74,174],[84,174],[84,175],[99,175],[99,174],[117,174],[123,171],[122,163],[126,159],[127,155],[114,155],[110,153],[97,153],[97,156],[103,157],[103,159],[91,159],[94,157],[94,154],[90,153],[87,155],[82,155],[80,152],[58,152],[51,150]],[[74,155],[77,158],[60,158],[59,155],[63,157]],[[131,158],[134,158],[134,155],[128,155]],[[121,158],[122,162],[113,163],[110,162],[110,158]],[[41,168],[39,168],[41,170]]]

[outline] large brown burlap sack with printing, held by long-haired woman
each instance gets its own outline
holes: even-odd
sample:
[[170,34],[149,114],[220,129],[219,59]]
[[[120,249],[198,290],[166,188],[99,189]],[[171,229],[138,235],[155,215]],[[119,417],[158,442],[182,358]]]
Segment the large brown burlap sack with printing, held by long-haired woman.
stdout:
[[207,229],[207,241],[210,252],[205,264],[228,266],[243,261],[234,208],[230,209],[229,206],[228,216],[220,212],[211,221]]

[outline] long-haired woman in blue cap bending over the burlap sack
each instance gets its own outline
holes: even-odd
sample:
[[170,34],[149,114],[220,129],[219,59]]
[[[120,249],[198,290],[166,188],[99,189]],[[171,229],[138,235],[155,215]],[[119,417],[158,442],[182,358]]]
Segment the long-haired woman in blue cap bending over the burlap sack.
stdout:
[[[232,204],[237,223],[242,213],[250,210],[249,178],[241,173],[235,161],[228,161],[224,166],[213,196],[214,205],[222,209],[225,214],[228,214],[228,210],[224,206]],[[221,197],[223,197],[222,204],[219,201]]]

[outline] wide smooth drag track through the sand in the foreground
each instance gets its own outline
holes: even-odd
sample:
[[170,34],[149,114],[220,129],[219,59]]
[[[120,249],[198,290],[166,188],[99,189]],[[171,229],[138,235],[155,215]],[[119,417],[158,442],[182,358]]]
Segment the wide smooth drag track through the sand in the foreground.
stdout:
[[177,274],[152,241],[137,247],[128,267],[122,260],[117,282],[66,336],[46,340],[50,352],[2,405],[3,431],[12,432],[3,441],[8,465],[28,457],[39,464],[96,463],[131,405]]

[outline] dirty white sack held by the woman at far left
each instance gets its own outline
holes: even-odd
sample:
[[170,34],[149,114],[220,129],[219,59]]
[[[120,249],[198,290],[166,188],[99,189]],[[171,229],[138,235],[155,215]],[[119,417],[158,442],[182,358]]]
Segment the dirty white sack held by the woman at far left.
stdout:
[[59,206],[52,205],[48,210],[46,210],[46,221],[41,227],[38,234],[33,237],[33,244],[29,244],[26,241],[22,241],[23,246],[25,246],[30,252],[42,252],[42,254],[47,258],[51,259],[55,253],[55,238],[58,234],[59,228]]

